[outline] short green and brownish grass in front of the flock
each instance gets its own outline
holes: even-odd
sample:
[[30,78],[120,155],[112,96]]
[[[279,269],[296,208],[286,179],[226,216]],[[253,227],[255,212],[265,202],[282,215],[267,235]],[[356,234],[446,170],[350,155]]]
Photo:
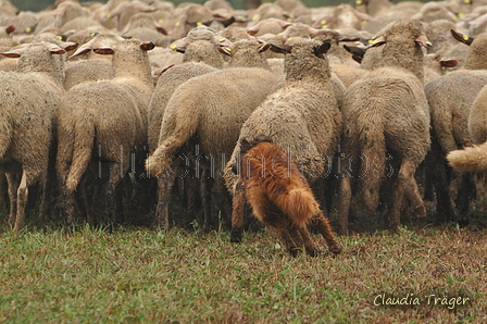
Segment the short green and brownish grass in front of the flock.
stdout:
[[[2,323],[482,323],[487,235],[458,228],[340,237],[332,258],[290,258],[273,230],[88,226],[0,234]],[[320,239],[316,237],[316,239]],[[377,295],[420,306],[374,306]],[[465,306],[427,304],[462,296]]]

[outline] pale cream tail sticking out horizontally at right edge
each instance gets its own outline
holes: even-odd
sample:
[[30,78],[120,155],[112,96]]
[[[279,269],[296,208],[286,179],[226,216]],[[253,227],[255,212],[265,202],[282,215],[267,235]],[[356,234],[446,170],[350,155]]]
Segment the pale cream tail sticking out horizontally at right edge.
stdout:
[[451,151],[447,160],[458,171],[484,172],[487,170],[487,141],[463,150]]

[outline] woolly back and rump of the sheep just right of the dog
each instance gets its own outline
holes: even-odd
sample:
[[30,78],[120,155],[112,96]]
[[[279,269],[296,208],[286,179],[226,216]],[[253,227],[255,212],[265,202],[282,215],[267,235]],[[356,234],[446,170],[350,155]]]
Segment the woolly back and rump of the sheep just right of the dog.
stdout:
[[420,163],[429,148],[429,114],[422,84],[411,73],[379,68],[353,83],[341,112],[344,136],[360,151],[371,136],[370,125],[380,132],[386,146]]

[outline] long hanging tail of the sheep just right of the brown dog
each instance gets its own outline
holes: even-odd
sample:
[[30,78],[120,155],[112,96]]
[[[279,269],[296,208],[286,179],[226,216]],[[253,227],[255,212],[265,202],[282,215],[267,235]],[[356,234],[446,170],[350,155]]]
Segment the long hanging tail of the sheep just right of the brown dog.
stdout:
[[[373,120],[371,120],[373,121]],[[379,123],[367,125],[362,133],[362,162],[360,167],[360,189],[365,208],[374,212],[380,200],[380,185],[386,169],[386,140]]]

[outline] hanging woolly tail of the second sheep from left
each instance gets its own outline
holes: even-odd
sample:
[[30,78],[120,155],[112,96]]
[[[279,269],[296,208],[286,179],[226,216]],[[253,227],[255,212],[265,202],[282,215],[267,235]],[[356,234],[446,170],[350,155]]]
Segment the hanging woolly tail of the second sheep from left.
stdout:
[[85,117],[77,121],[74,126],[74,132],[73,160],[66,179],[66,189],[68,194],[76,190],[76,187],[91,160],[95,141],[95,124],[92,119]]

